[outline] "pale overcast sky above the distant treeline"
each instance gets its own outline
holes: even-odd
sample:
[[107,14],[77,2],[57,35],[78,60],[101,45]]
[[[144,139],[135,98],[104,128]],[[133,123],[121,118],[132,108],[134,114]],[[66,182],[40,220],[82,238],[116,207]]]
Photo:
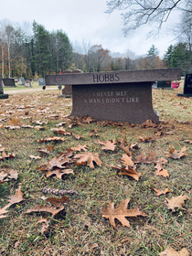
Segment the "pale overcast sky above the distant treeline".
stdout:
[[[176,43],[167,33],[167,25],[157,37],[146,38],[147,28],[136,30],[132,36],[123,37],[120,12],[111,16],[105,14],[106,0],[1,0],[0,19],[12,22],[23,21],[43,25],[48,31],[63,29],[70,41],[86,40],[91,45],[98,44],[111,52],[133,51],[136,55],[146,54],[154,44],[160,57],[170,44]],[[176,16],[175,16],[176,18]],[[175,19],[174,18],[174,19]],[[173,20],[174,21],[174,20]]]

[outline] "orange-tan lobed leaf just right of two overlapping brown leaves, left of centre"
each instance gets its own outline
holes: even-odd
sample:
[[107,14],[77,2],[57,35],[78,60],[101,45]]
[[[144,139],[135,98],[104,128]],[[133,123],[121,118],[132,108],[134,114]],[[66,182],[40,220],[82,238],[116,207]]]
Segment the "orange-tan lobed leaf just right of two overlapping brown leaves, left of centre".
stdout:
[[76,165],[89,165],[92,169],[94,169],[93,162],[99,166],[102,165],[99,155],[93,154],[92,152],[88,152],[85,154],[77,154],[73,156],[73,159],[76,160]]

